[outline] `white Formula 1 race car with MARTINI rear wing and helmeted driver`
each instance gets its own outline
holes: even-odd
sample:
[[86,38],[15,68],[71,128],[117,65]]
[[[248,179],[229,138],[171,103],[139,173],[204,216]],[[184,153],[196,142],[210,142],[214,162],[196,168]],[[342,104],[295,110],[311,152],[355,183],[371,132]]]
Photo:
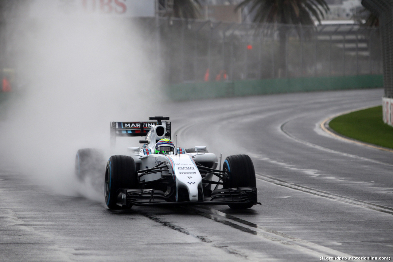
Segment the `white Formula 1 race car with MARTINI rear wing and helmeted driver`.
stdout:
[[[159,141],[170,141],[171,122],[163,121],[169,120],[163,116],[149,120],[156,122],[111,122],[112,146],[116,137],[145,136],[145,140],[139,141],[141,147],[129,147],[128,155],[112,155],[107,161],[104,192],[108,208],[208,204],[243,209],[261,204],[257,202],[255,171],[248,155],[227,157],[220,170],[217,165],[221,166],[221,157],[218,162],[206,146],[173,146],[173,150],[156,151]],[[80,179],[86,169],[97,166],[97,155],[96,149],[79,149],[75,172]]]

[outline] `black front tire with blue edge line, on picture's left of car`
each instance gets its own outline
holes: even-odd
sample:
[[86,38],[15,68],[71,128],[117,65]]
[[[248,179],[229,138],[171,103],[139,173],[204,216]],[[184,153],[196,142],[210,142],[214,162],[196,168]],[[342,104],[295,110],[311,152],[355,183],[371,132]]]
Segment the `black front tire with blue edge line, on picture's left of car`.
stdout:
[[130,156],[113,155],[105,170],[105,203],[110,209],[126,209],[117,205],[119,188],[138,188],[135,161]]

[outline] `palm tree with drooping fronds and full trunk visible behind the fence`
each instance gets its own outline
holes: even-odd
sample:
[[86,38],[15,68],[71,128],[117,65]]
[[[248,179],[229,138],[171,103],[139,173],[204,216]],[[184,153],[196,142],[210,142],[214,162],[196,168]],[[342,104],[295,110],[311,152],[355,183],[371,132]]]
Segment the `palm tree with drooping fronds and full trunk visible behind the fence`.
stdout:
[[[314,26],[314,19],[321,22],[329,6],[325,0],[244,0],[235,10],[249,7],[253,22]],[[280,68],[286,68],[288,26],[279,27]]]

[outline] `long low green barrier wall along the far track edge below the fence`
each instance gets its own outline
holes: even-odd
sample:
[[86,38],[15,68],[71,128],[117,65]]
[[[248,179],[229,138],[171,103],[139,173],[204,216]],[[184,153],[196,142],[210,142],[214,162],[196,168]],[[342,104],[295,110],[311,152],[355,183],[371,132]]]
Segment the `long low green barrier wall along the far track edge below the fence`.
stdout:
[[383,75],[299,77],[183,83],[168,87],[171,100],[383,87]]

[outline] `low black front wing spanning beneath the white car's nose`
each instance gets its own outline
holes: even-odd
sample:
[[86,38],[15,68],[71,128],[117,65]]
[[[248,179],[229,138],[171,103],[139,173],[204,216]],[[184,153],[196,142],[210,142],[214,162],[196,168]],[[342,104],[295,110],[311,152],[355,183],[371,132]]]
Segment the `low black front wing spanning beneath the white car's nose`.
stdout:
[[230,204],[259,204],[257,201],[257,188],[238,187],[222,188],[211,192],[211,197],[206,197],[204,201],[178,201],[173,202],[168,199],[164,192],[155,189],[127,189],[118,190],[119,206],[145,206],[145,205],[230,205]]

